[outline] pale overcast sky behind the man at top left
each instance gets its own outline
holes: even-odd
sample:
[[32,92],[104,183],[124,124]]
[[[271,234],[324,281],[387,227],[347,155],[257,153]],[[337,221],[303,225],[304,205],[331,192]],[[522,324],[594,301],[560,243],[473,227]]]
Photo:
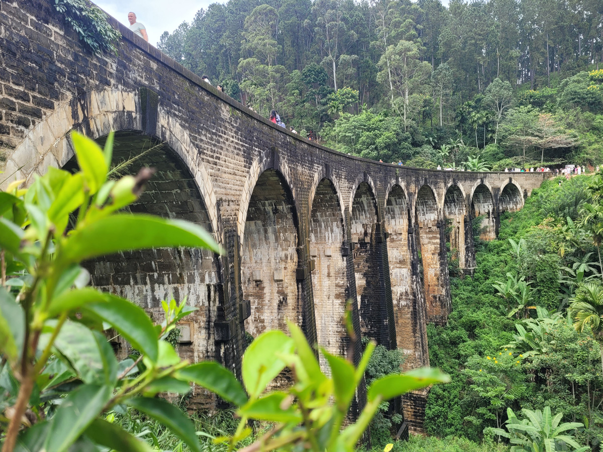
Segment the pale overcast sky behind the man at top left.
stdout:
[[[186,20],[189,24],[195,13],[211,3],[226,3],[226,0],[93,0],[95,4],[111,14],[124,25],[128,13],[134,11],[136,19],[147,27],[149,41],[157,45],[164,31],[172,33]],[[443,0],[447,5],[448,0]]]

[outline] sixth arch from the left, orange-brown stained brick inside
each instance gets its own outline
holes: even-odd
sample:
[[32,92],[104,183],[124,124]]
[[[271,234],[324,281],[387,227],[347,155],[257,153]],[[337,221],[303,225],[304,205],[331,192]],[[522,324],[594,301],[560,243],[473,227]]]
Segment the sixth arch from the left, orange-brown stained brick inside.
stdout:
[[450,313],[450,280],[444,225],[438,218],[438,202],[431,187],[418,190],[415,207],[418,243],[423,262],[423,286],[428,321],[443,325]]

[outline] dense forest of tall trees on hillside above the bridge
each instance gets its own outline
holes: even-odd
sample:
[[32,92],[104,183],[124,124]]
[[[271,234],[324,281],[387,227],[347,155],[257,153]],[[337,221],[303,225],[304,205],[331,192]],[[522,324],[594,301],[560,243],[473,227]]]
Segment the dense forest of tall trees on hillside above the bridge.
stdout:
[[603,162],[598,0],[229,0],[159,48],[260,114],[368,159]]

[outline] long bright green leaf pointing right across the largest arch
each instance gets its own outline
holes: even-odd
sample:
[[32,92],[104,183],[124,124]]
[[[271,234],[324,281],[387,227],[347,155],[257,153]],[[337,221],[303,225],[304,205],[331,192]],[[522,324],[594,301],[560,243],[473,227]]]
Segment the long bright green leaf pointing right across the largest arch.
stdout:
[[71,234],[57,257],[64,265],[118,251],[192,246],[220,252],[202,227],[153,215],[118,213],[87,224]]

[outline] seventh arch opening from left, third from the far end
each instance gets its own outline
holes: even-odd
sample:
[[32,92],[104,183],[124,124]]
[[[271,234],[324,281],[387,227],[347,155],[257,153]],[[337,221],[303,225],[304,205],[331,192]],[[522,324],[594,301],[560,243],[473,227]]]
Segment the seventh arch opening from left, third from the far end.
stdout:
[[[467,213],[465,197],[457,185],[451,185],[444,195],[444,217],[446,218],[446,243],[449,243],[451,272],[466,268],[466,230]],[[456,275],[455,275],[456,276]]]

